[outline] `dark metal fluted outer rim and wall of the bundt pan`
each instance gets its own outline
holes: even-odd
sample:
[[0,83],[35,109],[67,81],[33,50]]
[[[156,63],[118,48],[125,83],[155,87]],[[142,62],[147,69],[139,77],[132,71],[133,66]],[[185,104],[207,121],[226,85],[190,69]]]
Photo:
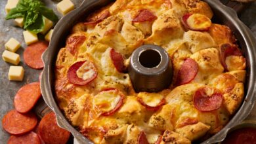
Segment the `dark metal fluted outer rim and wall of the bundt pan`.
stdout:
[[[203,143],[218,143],[223,141],[228,130],[240,124],[251,112],[255,101],[255,80],[256,80],[256,40],[251,31],[239,19],[236,12],[224,6],[218,0],[204,0],[214,12],[213,22],[229,26],[238,39],[240,48],[244,52],[247,60],[247,77],[245,84],[245,99],[237,113],[230,119],[228,124],[217,134],[209,137]],[[43,54],[45,68],[41,79],[41,91],[43,99],[49,107],[56,113],[58,125],[70,131],[80,143],[92,143],[89,139],[80,134],[64,117],[62,111],[56,103],[54,93],[54,64],[58,51],[65,45],[66,36],[70,29],[77,22],[84,20],[91,11],[110,3],[110,0],[85,0],[80,7],[64,16],[54,27],[53,36],[49,48]]]

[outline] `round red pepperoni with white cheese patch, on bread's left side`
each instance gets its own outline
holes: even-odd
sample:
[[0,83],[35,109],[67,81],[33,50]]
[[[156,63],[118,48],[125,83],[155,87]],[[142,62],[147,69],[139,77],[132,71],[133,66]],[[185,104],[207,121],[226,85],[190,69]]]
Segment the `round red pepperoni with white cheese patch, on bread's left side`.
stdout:
[[[79,75],[77,75],[77,73]],[[85,85],[93,81],[98,75],[98,70],[92,62],[87,60],[76,62],[68,69],[68,81],[72,84]],[[80,77],[79,77],[80,76]]]

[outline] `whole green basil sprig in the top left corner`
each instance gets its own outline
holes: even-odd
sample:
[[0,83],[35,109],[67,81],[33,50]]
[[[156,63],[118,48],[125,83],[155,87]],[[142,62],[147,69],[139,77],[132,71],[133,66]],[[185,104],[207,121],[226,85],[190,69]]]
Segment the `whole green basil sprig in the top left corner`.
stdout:
[[20,0],[17,6],[10,10],[5,19],[10,20],[22,17],[24,18],[24,29],[40,33],[45,26],[43,16],[53,22],[58,21],[58,17],[53,10],[45,7],[41,1]]

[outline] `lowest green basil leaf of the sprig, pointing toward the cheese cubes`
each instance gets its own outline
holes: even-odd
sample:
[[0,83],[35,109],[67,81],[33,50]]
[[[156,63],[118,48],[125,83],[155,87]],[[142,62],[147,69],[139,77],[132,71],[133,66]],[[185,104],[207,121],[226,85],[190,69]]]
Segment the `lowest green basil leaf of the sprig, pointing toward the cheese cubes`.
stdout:
[[43,15],[38,14],[35,22],[33,24],[31,24],[30,26],[28,26],[26,29],[28,31],[32,31],[33,33],[40,33],[41,31],[43,31],[44,27],[45,27],[45,21],[43,19]]

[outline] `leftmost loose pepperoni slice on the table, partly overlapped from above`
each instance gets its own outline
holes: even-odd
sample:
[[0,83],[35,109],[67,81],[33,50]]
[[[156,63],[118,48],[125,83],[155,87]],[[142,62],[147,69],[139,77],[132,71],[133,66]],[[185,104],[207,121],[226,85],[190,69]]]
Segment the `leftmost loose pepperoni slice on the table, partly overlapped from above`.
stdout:
[[2,120],[3,128],[13,135],[30,132],[37,125],[37,117],[33,113],[21,114],[15,109],[9,111]]

